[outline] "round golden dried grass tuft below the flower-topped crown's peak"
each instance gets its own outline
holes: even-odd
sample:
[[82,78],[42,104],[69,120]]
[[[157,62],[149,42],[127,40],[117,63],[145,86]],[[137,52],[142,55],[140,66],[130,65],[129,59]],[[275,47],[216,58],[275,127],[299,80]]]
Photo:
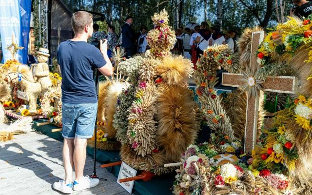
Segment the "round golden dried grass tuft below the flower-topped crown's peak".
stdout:
[[170,86],[184,86],[193,72],[192,62],[183,56],[168,56],[157,66],[157,74]]

